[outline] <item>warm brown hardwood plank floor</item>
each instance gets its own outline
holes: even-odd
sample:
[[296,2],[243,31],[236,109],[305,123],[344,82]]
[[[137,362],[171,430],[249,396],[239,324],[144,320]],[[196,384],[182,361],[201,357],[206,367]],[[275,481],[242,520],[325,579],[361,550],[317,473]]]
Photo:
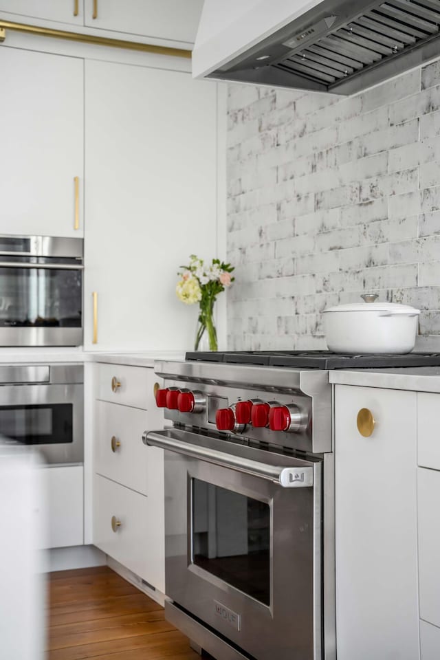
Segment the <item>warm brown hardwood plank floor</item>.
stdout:
[[164,610],[107,566],[50,574],[48,660],[200,660]]

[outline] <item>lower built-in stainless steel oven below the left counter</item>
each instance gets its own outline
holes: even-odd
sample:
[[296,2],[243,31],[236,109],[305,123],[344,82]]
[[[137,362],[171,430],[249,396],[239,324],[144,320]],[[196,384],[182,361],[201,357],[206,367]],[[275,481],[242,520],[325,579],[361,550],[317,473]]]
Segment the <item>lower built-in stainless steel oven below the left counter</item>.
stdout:
[[46,463],[83,463],[82,364],[0,366],[0,437],[33,445]]

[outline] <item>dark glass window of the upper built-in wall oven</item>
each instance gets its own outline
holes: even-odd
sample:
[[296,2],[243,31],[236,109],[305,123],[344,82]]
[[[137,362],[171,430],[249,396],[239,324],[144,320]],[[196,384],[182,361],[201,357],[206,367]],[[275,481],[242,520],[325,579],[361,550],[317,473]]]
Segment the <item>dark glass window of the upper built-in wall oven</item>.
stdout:
[[81,301],[80,270],[0,267],[0,327],[81,327]]

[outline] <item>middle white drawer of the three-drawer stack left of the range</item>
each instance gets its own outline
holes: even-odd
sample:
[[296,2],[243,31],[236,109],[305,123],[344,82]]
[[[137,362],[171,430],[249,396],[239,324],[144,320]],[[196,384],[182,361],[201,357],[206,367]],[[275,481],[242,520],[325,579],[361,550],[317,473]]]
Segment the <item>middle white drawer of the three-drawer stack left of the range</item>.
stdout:
[[149,415],[146,410],[96,401],[94,471],[144,495],[154,487],[155,472],[164,469],[163,451],[142,442],[142,433],[151,428]]

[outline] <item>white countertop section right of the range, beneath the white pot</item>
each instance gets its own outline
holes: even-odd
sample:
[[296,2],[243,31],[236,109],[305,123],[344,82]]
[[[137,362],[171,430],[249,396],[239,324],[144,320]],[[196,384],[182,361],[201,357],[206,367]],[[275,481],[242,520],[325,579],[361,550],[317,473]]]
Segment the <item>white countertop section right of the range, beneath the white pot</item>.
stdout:
[[360,385],[389,390],[440,392],[440,366],[419,366],[413,369],[335,369],[329,371],[329,382],[337,385]]

